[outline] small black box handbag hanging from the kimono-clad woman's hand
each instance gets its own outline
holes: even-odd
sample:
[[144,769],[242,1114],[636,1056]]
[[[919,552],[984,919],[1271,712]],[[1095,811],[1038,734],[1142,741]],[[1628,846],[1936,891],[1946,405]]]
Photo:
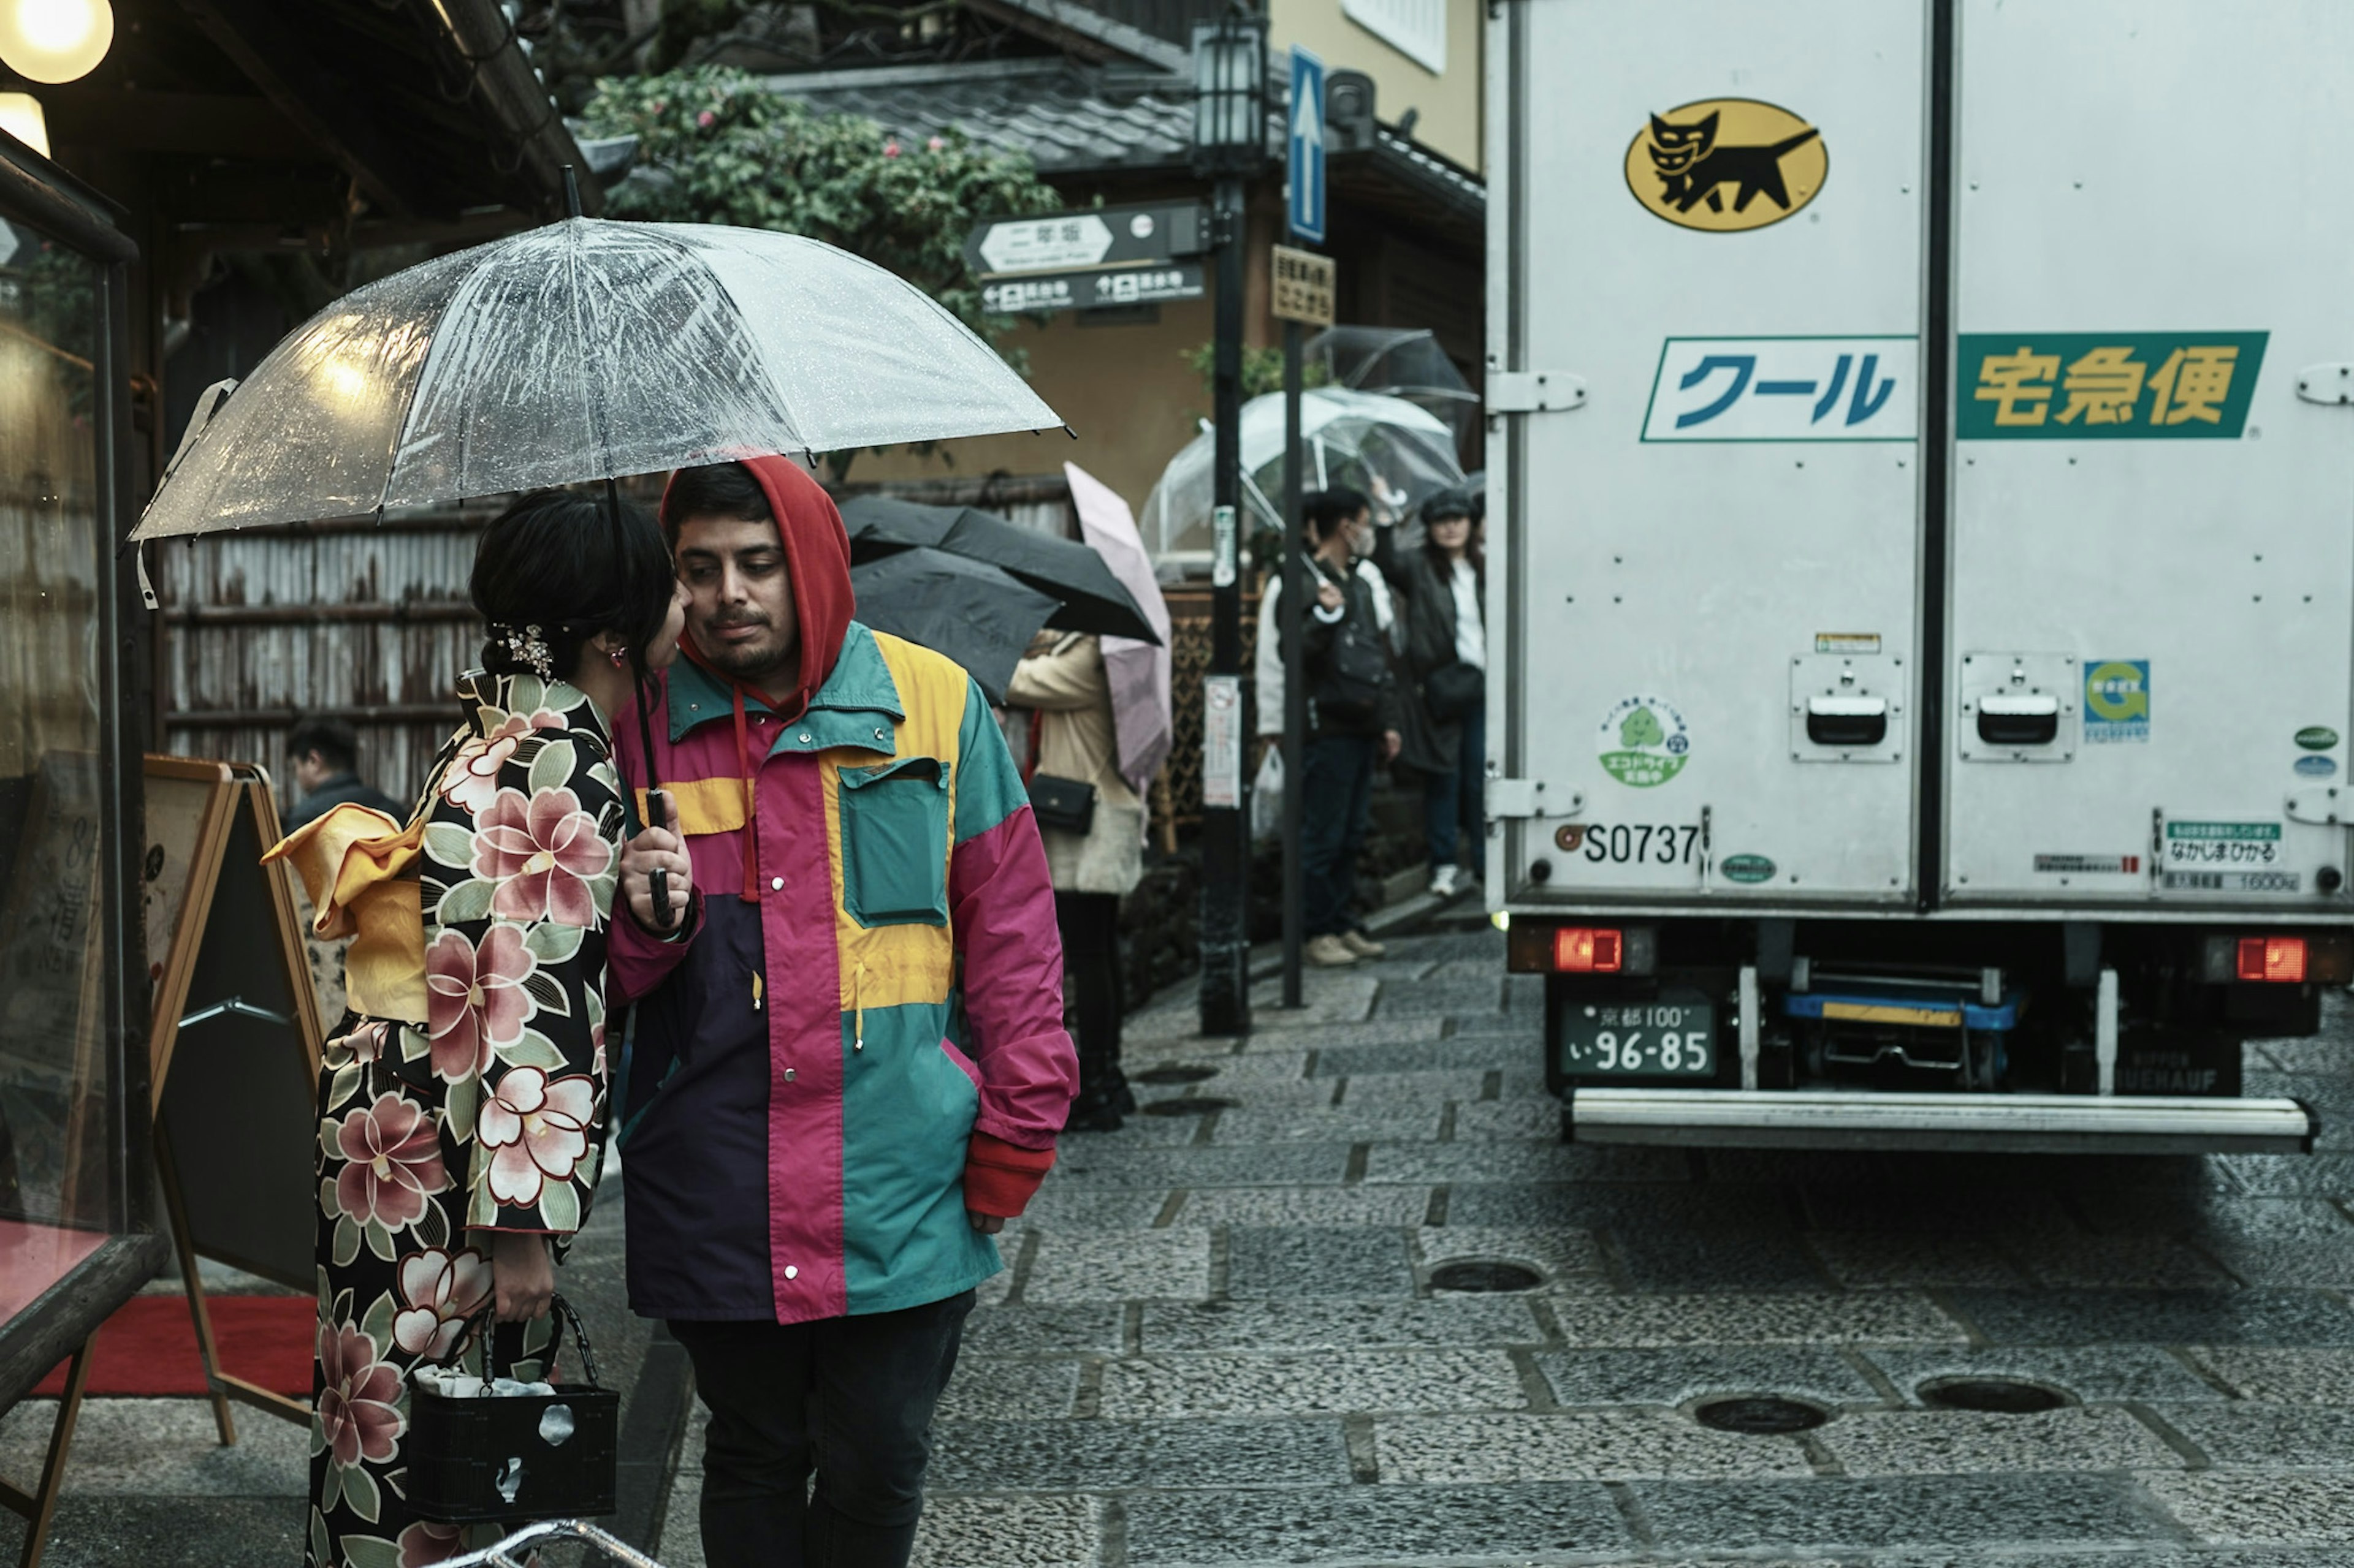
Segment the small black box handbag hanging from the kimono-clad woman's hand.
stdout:
[[[459,1398],[410,1382],[410,1502],[438,1523],[572,1519],[614,1511],[621,1455],[621,1396],[598,1387],[588,1330],[565,1297],[553,1300],[556,1344],[572,1321],[572,1342],[588,1382],[558,1382],[553,1394],[480,1394]],[[480,1340],[483,1380],[494,1368],[490,1314],[476,1318],[452,1361]]]

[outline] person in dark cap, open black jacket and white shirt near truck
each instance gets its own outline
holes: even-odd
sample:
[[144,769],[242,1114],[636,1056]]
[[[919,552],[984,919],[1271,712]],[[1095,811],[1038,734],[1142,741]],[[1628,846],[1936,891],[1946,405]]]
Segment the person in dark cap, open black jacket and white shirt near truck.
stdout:
[[1464,831],[1478,843],[1481,775],[1488,758],[1485,560],[1471,499],[1434,494],[1422,504],[1422,549],[1391,563],[1405,598],[1405,760],[1422,772],[1422,836],[1431,850],[1431,892],[1462,888]]

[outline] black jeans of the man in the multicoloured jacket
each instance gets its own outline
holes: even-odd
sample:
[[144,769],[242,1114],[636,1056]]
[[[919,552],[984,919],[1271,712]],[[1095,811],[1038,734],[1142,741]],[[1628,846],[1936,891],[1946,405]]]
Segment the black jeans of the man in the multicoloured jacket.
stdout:
[[[906,1568],[972,1293],[817,1323],[690,1323],[711,1568]],[[817,1471],[817,1490],[810,1490]]]

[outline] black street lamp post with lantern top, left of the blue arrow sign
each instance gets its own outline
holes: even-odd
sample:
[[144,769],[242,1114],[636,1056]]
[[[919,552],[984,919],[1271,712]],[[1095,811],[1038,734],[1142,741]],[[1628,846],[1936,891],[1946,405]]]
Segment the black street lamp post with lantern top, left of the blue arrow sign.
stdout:
[[1193,24],[1193,170],[1217,181],[1215,560],[1203,683],[1201,1031],[1250,1034],[1250,815],[1243,810],[1243,181],[1266,165],[1266,21]]

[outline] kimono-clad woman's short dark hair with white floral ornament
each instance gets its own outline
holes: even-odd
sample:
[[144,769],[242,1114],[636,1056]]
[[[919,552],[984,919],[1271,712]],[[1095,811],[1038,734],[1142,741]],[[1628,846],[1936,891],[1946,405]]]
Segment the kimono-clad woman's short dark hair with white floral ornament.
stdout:
[[[473,553],[468,591],[492,629],[483,669],[565,680],[600,631],[626,638],[643,662],[671,614],[673,584],[671,551],[643,506],[621,501],[617,516],[605,497],[532,490],[490,520]],[[523,647],[530,626],[546,671],[539,650]]]

